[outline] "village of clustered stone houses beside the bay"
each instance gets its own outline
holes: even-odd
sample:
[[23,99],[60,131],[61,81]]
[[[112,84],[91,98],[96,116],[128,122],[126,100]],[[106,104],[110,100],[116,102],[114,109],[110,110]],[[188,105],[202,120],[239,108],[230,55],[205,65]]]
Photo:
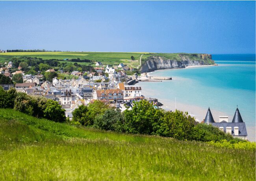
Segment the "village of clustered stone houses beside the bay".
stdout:
[[[108,102],[121,109],[121,111],[132,107],[132,102],[142,99],[153,102],[155,106],[161,105],[157,99],[145,98],[142,95],[141,87],[134,85],[141,79],[137,74],[128,76],[124,72],[124,70],[133,70],[133,68],[124,66],[122,63],[111,67],[109,65],[103,66],[100,62],[96,62],[95,65],[95,71],[93,72],[72,71],[70,75],[76,76],[77,79],[58,79],[54,77],[52,81],[48,81],[44,80],[40,71],[35,76],[25,74],[20,66],[17,71],[10,73],[9,69],[13,68],[13,64],[9,61],[9,63],[5,63],[4,67],[0,68],[0,74],[10,78],[15,74],[22,74],[23,83],[1,86],[4,90],[15,87],[17,92],[45,96],[57,101],[65,109],[66,117],[70,119],[72,119],[72,111],[78,108],[79,105],[88,105],[94,100]],[[55,70],[48,69],[45,72],[55,72]],[[63,71],[60,70],[59,72],[62,73]],[[68,74],[69,72],[65,73]],[[144,76],[144,79],[147,78]]]

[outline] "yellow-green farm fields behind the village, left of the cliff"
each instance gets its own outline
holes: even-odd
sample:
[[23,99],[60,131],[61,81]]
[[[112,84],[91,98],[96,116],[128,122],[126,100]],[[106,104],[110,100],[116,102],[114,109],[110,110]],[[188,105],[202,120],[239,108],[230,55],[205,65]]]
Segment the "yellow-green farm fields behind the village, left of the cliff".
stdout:
[[[37,57],[42,59],[89,59],[93,62],[100,61],[103,65],[118,65],[124,63],[125,65],[136,67],[139,65],[139,57],[147,52],[7,52],[0,53],[0,63],[11,60],[13,57]],[[131,56],[135,60],[131,60]],[[88,65],[89,63],[80,63]]]

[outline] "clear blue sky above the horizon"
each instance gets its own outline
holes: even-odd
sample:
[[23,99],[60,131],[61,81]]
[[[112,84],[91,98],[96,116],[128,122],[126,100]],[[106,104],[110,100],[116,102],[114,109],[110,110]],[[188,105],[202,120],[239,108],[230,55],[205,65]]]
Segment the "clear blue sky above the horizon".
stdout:
[[0,1],[0,49],[255,53],[255,1]]

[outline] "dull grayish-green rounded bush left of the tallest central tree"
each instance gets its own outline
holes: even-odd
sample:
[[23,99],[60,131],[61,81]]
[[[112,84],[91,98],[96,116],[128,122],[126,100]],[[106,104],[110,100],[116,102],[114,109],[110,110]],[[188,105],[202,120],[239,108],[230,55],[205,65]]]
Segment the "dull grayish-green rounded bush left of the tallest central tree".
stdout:
[[123,132],[124,116],[120,109],[107,109],[103,115],[95,118],[93,127]]

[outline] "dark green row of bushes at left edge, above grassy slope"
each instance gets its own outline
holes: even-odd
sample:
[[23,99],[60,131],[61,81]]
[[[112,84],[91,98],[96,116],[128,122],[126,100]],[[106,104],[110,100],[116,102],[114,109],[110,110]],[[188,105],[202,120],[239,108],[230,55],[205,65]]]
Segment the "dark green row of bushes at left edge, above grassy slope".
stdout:
[[13,88],[6,91],[0,87],[0,108],[11,108],[37,118],[65,122],[65,110],[58,102],[43,96],[29,96]]

